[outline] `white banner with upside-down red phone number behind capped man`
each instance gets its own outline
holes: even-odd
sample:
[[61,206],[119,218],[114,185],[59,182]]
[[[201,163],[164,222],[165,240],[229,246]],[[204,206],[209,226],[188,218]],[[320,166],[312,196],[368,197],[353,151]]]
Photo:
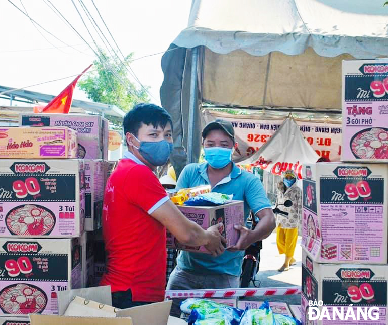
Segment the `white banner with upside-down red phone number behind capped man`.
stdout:
[[[205,122],[209,123],[219,117],[210,113],[204,114]],[[232,123],[238,146],[233,160],[252,155],[263,146],[284,120],[246,119],[222,117]],[[285,118],[284,118],[285,119]],[[340,161],[341,154],[341,124],[300,122],[299,125],[307,142],[320,157],[327,157],[330,161]]]

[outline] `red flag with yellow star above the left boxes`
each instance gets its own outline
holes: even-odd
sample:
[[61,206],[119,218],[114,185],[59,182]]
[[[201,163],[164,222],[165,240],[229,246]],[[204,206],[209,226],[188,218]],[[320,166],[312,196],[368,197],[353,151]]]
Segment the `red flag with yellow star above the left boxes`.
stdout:
[[78,79],[92,66],[89,65],[82,73],[74,79],[57,97],[54,97],[46,106],[34,107],[34,113],[63,113],[67,114],[70,111],[73,101],[73,90]]

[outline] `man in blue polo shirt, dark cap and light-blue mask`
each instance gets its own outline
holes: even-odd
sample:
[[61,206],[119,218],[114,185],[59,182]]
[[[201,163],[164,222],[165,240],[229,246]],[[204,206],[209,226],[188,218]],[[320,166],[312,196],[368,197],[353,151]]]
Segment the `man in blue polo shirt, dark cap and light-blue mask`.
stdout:
[[[263,185],[258,177],[240,169],[231,157],[235,146],[231,123],[215,120],[202,131],[205,163],[189,164],[181,172],[176,188],[210,184],[212,192],[233,194],[234,200],[244,201],[244,221],[252,210],[260,219],[254,230],[235,225],[240,231],[236,245],[218,257],[182,251],[178,264],[171,273],[167,290],[203,288],[238,288],[244,250],[252,243],[267,238],[275,228]],[[179,314],[179,301],[173,302],[172,314]]]

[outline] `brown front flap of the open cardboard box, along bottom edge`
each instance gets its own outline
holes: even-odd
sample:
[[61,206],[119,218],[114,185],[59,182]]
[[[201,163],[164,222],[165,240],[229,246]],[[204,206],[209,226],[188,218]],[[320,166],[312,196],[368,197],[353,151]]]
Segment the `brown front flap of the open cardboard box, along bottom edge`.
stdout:
[[70,317],[52,315],[29,315],[31,325],[133,325],[130,317],[103,318],[103,317]]

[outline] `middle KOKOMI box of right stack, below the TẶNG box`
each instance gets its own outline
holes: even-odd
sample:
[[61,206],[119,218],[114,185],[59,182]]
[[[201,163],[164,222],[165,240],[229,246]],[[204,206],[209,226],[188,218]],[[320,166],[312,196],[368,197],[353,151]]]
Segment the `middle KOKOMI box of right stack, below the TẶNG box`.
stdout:
[[302,247],[319,263],[387,263],[388,165],[303,166]]

